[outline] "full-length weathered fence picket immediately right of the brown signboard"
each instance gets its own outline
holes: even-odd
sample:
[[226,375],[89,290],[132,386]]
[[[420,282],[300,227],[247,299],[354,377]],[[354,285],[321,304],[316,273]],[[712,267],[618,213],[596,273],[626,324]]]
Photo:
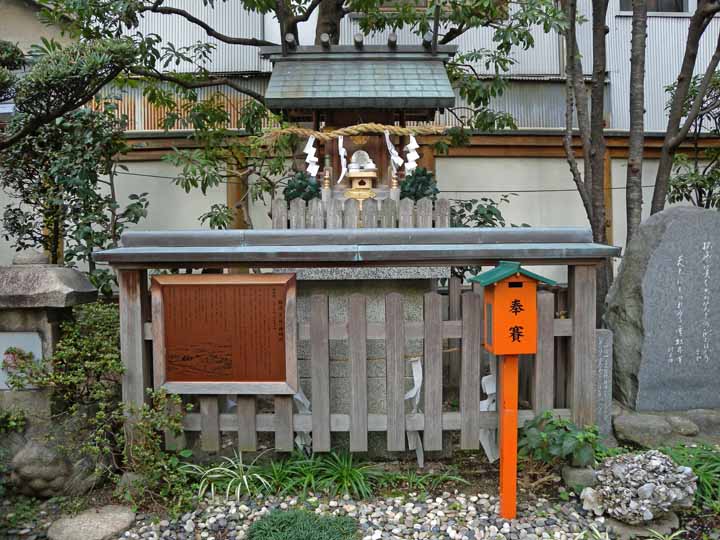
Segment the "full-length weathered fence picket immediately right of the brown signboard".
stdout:
[[310,308],[312,439],[314,452],[330,451],[330,342],[328,297],[316,294]]

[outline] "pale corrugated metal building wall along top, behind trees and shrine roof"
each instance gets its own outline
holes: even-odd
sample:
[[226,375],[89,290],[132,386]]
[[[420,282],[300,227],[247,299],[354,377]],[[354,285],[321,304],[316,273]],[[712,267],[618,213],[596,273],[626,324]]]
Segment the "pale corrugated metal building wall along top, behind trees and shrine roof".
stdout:
[[[205,8],[203,3],[193,0],[173,0],[174,5],[189,9],[192,13],[212,22],[221,31],[230,35],[257,37],[278,43],[280,31],[277,21],[271,14],[264,17],[249,13],[242,9],[241,3],[216,2],[215,9]],[[697,0],[688,0],[687,13],[652,13],[648,20],[648,48],[647,48],[647,75],[646,75],[646,130],[663,131],[666,127],[667,116],[665,104],[667,94],[665,87],[677,77],[682,61],[687,28],[690,14],[697,5]],[[578,10],[588,21],[590,19],[590,0],[579,0]],[[310,45],[315,37],[315,16],[300,25],[300,43]],[[629,129],[629,79],[630,79],[630,35],[631,16],[619,9],[619,0],[611,0],[607,24],[608,47],[608,104],[606,107],[608,127],[612,129]],[[176,46],[190,46],[199,40],[206,40],[199,28],[193,28],[177,17],[163,15],[148,15],[143,19],[141,29],[145,32],[155,32],[172,41]],[[341,24],[341,43],[351,44],[354,33],[360,31],[358,19],[352,15],[345,17]],[[388,32],[380,32],[366,38],[368,43],[385,43]],[[459,46],[459,52],[476,50],[480,48],[493,48],[491,29],[474,29],[460,36],[454,43]],[[511,77],[536,79],[536,88],[547,86],[547,89],[538,89],[536,92],[527,92],[528,85],[518,82],[518,89],[508,93],[506,98],[497,99],[493,105],[498,110],[511,110],[515,113],[517,123],[523,128],[557,128],[563,127],[564,103],[556,99],[558,90],[557,81],[552,79],[564,76],[565,47],[563,39],[556,32],[545,33],[541,28],[532,31],[535,38],[534,47],[528,50],[516,49],[513,58],[516,63],[510,68]],[[707,66],[715,43],[720,34],[720,19],[716,18],[700,46],[697,62],[697,72],[702,72]],[[399,43],[417,44],[419,38],[409,29],[398,32]],[[583,70],[586,75],[591,73],[592,48],[591,25],[589,22],[578,27],[578,42],[583,59]],[[212,52],[212,63],[209,68],[216,72],[246,72],[269,73],[270,62],[259,57],[259,51],[252,47],[239,47],[209,40],[216,49]],[[484,65],[478,63],[479,72],[488,73]],[[181,65],[180,70],[189,70],[190,66]],[[561,85],[560,85],[561,86]],[[551,96],[548,99],[548,96]],[[508,106],[510,102],[511,106]],[[458,102],[458,105],[462,103]],[[544,106],[543,114],[534,114],[539,106]],[[525,112],[523,109],[528,109]],[[453,123],[450,117],[442,121]]]

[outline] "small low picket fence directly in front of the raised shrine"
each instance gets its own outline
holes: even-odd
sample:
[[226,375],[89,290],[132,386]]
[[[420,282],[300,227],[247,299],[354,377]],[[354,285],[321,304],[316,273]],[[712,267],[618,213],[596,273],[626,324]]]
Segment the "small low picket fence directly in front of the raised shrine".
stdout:
[[367,199],[361,205],[355,199],[293,199],[288,205],[275,199],[271,215],[273,229],[440,228],[450,225],[450,201]]

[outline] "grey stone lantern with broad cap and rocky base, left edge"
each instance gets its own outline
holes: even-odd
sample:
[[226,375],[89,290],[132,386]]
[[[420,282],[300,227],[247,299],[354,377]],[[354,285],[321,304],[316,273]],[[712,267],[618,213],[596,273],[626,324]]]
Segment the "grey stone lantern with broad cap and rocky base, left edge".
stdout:
[[[15,347],[39,362],[50,358],[59,339],[60,323],[72,307],[94,302],[97,291],[78,270],[48,264],[38,252],[19,253],[12,266],[0,267],[0,353]],[[39,389],[11,390],[0,368],[0,408],[22,410],[24,433],[3,436],[0,449],[11,457],[12,476],[27,495],[51,497],[77,488],[77,467],[47,442],[50,396]],[[84,491],[80,488],[77,491]]]

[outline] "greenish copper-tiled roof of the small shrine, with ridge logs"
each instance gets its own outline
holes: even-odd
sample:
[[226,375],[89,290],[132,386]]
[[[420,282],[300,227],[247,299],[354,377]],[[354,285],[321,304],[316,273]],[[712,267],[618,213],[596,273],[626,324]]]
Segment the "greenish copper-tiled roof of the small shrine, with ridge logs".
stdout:
[[455,47],[370,45],[263,48],[273,62],[265,104],[271,110],[442,109],[455,105],[445,63]]

